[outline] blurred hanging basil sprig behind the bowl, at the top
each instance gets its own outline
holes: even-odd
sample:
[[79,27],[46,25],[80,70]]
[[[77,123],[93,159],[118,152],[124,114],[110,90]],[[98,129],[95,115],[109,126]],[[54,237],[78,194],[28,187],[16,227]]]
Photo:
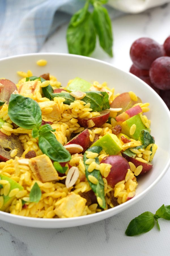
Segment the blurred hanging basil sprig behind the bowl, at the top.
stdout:
[[[89,56],[95,49],[98,36],[101,48],[113,56],[111,20],[107,9],[102,6],[107,2],[87,0],[84,7],[71,17],[66,34],[69,53]],[[93,7],[92,12],[90,7]]]

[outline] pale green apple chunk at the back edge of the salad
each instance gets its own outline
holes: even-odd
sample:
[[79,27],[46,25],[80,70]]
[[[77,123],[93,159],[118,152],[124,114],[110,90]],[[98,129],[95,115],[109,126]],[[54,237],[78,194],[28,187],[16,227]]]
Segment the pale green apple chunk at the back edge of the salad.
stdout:
[[66,89],[69,92],[74,92],[74,91],[87,92],[91,86],[92,84],[89,83],[88,81],[80,77],[76,77],[68,86],[66,86]]

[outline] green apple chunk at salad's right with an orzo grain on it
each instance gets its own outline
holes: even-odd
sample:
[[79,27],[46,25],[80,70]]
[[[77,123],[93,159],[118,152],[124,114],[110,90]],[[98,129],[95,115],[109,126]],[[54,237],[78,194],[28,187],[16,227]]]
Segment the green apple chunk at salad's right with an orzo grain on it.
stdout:
[[[130,128],[133,124],[136,125],[136,130],[135,130],[135,133],[131,135]],[[147,130],[150,132],[150,129],[146,128],[146,126],[143,124],[139,114],[134,115],[133,117],[124,121],[121,126],[122,126],[122,133],[126,134],[128,137],[134,140],[138,140],[141,130]]]

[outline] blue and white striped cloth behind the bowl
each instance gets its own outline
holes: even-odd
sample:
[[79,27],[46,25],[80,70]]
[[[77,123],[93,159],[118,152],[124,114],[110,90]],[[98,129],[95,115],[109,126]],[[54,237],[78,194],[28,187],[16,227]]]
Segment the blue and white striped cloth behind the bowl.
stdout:
[[[0,58],[39,52],[54,31],[84,6],[82,0],[0,0]],[[110,17],[122,12],[108,7]]]

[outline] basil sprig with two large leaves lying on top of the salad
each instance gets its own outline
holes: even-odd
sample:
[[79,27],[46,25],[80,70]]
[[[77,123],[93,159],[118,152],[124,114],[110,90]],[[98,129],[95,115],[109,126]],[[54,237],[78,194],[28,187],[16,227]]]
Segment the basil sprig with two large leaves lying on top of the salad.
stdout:
[[38,103],[31,98],[19,94],[11,94],[8,106],[8,115],[12,122],[24,129],[32,129],[33,138],[39,137],[39,148],[57,162],[67,162],[71,155],[52,133],[49,124],[42,125],[41,109]]

